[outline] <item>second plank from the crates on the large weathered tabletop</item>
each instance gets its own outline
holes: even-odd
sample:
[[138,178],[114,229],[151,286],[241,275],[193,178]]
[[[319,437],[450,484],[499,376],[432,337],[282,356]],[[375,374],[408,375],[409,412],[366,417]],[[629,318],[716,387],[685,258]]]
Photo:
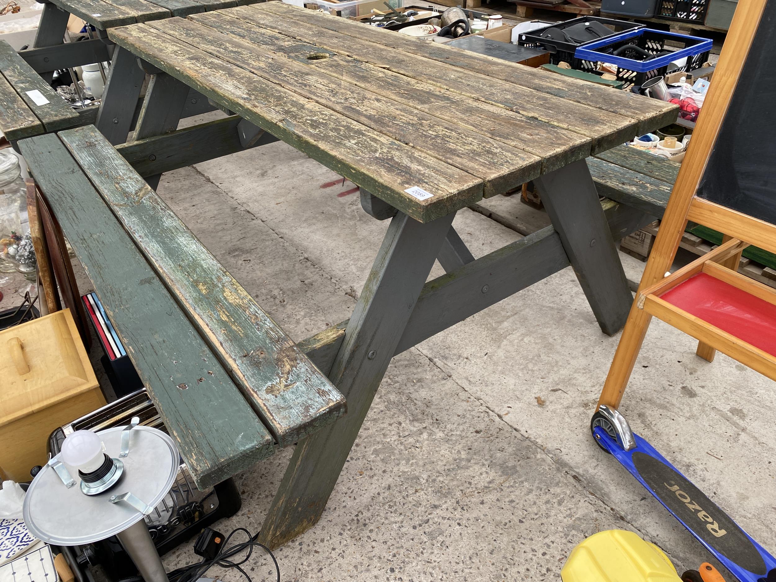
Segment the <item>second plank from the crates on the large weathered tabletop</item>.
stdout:
[[[592,106],[581,105],[507,81],[431,61],[402,50],[392,50],[376,43],[360,40],[355,36],[310,26],[289,16],[259,10],[257,6],[238,6],[226,12],[258,25],[259,29],[274,30],[335,53],[387,68],[417,81],[451,89],[462,95],[546,121],[564,130],[581,133],[591,138],[593,151],[605,150],[629,141],[638,130],[638,123],[624,116],[605,113]],[[278,51],[282,53],[281,48]]]

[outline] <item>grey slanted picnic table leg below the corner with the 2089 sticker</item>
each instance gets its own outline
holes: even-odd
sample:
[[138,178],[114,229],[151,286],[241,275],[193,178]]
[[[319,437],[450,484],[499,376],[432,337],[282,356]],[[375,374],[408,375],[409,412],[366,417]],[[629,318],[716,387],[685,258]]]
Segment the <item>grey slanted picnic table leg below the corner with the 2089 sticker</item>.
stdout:
[[265,546],[282,546],[320,519],[453,216],[391,219],[329,374],[348,414],[296,445],[258,536]]

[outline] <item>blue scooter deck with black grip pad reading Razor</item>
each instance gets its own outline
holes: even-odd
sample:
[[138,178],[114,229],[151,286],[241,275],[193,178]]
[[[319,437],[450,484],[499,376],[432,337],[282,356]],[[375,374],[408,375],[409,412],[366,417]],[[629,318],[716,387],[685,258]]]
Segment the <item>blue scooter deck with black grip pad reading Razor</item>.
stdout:
[[598,442],[742,582],[776,582],[776,558],[755,542],[687,477],[639,435],[625,451],[602,428]]

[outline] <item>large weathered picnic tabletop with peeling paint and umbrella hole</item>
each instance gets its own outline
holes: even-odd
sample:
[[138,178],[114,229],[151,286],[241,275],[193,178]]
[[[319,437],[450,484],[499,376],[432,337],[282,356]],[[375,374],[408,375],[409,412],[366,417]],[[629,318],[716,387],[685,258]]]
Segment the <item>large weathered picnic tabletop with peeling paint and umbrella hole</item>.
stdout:
[[676,120],[667,102],[282,2],[109,38],[423,222]]

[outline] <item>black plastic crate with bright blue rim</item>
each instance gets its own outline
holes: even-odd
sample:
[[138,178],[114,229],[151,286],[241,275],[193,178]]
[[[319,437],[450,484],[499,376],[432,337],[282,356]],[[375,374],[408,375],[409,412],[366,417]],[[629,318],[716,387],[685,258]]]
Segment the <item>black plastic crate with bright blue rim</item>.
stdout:
[[[671,41],[672,49],[677,44],[681,47],[666,50],[668,40]],[[711,49],[712,41],[699,36],[645,28],[586,43],[577,48],[575,60],[578,59],[578,70],[588,73],[598,73],[599,62],[615,64],[617,80],[624,81],[625,88],[628,88],[643,85],[644,81],[653,77],[663,76],[672,61],[684,57],[687,57],[687,61],[677,71],[701,68],[708,60]]]

